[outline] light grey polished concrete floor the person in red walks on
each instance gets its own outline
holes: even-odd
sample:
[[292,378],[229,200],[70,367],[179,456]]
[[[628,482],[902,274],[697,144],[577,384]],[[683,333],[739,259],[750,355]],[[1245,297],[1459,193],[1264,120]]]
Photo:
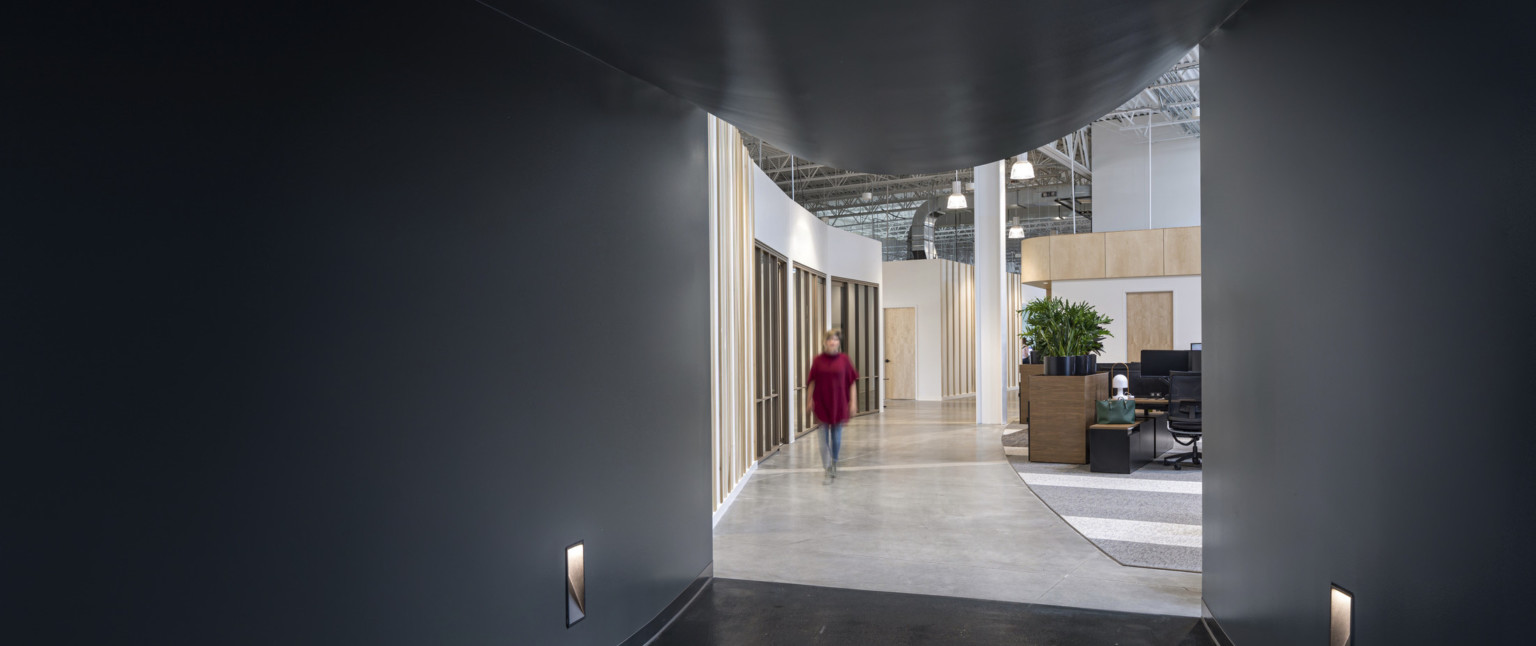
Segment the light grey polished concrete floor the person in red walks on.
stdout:
[[865,591],[1200,615],[1200,575],[1106,557],[1008,465],[971,400],[891,402],[765,459],[714,528],[714,574]]

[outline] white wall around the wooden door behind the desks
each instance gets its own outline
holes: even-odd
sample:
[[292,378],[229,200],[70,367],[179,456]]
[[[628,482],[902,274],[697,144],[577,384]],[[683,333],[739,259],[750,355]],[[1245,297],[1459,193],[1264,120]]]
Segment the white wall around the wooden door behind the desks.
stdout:
[[1068,301],[1087,301],[1115,319],[1114,338],[1104,339],[1100,364],[1141,361],[1126,358],[1126,295],[1130,292],[1174,292],[1174,350],[1189,350],[1200,342],[1200,276],[1097,278],[1089,281],[1051,281],[1051,295]]

